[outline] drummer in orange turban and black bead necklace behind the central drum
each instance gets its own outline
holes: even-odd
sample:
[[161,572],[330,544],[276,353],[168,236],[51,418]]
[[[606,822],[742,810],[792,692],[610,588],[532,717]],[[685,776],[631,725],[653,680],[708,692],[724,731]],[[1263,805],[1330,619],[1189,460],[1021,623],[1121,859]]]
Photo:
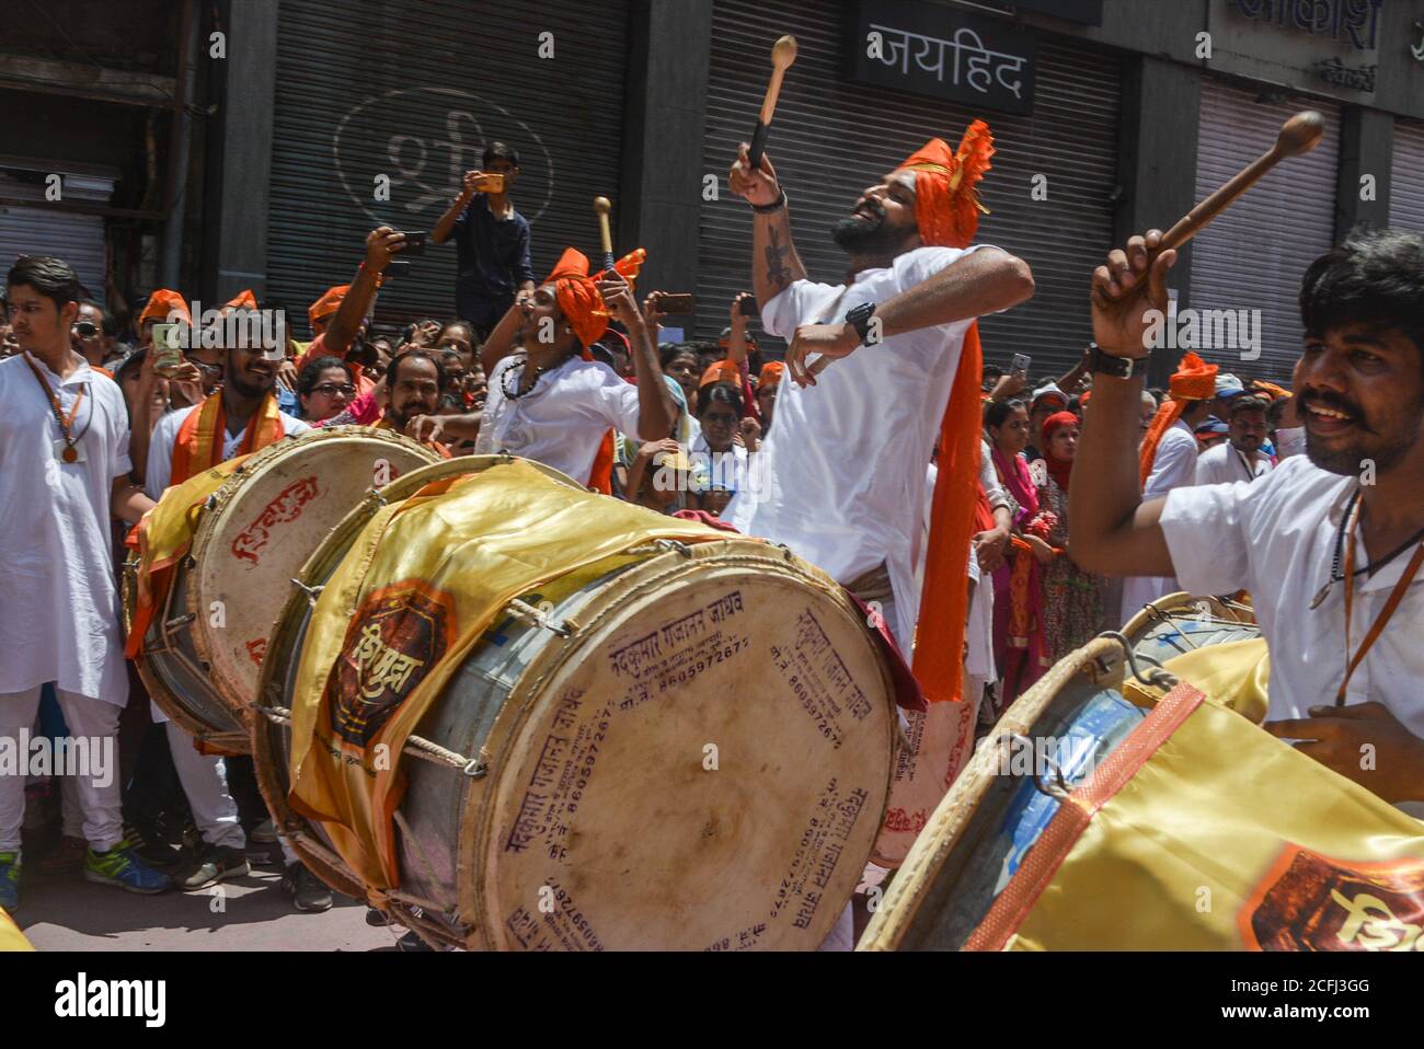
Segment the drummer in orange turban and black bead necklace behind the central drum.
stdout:
[[[645,252],[614,272],[590,275],[588,258],[568,248],[533,296],[514,303],[481,350],[488,376],[484,411],[417,420],[417,438],[474,440],[476,454],[533,458],[609,492],[612,433],[642,441],[668,437],[678,418],[648,326],[632,296]],[[588,347],[611,320],[628,332],[637,384],[625,383]]]

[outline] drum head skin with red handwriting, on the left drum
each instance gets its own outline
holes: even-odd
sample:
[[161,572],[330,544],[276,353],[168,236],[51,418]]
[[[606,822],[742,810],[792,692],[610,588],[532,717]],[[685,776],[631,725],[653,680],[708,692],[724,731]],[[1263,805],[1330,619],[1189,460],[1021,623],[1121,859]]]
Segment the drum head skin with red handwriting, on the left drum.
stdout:
[[228,705],[256,696],[272,623],[326,534],[372,488],[434,461],[399,434],[332,427],[263,448],[218,490],[194,537],[188,611]]

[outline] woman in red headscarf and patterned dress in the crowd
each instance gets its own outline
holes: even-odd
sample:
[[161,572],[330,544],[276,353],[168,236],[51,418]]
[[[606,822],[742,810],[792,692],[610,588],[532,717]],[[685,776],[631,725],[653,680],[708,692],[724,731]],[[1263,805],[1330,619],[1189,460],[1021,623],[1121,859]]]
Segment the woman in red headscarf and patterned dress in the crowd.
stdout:
[[1040,478],[1040,521],[1034,525],[1052,557],[1041,566],[1044,639],[1048,658],[1058,662],[1106,629],[1102,579],[1084,572],[1065,552],[1068,545],[1068,484],[1078,454],[1078,417],[1058,411],[1044,420],[1044,465]]

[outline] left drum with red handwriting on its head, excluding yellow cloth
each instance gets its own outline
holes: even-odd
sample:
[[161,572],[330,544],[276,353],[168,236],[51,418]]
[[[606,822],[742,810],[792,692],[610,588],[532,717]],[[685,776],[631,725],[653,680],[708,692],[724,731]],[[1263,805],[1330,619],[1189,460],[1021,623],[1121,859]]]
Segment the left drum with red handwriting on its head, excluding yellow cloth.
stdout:
[[[144,638],[148,695],[195,737],[246,753],[238,710],[253,700],[268,635],[292,578],[373,492],[439,457],[367,427],[332,427],[253,454],[198,508],[192,547]],[[137,559],[124,574],[132,621]]]

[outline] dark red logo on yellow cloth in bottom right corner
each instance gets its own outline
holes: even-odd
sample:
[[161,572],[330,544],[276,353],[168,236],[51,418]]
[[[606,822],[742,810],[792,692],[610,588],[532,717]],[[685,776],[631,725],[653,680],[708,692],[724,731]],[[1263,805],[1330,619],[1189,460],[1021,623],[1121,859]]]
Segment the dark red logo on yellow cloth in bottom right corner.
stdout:
[[1259,951],[1424,951],[1424,860],[1346,863],[1287,845],[1237,921]]

